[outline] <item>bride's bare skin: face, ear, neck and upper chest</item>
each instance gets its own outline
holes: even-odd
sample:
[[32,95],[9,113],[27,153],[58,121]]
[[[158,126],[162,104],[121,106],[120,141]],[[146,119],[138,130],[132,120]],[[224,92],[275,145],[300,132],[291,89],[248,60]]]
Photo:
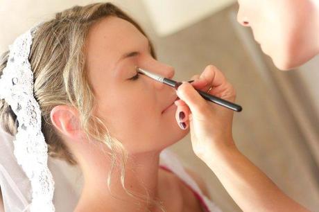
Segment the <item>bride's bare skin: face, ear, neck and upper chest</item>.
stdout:
[[[168,211],[182,211],[180,197],[185,193],[184,187],[175,175],[159,168],[160,152],[189,133],[175,122],[175,89],[142,75],[130,80],[137,74],[136,66],[166,78],[173,78],[174,69],[155,60],[148,39],[128,21],[117,17],[102,19],[90,28],[85,53],[89,81],[96,94],[96,116],[128,151],[126,187],[145,194],[143,182],[150,198],[162,200]],[[162,114],[168,105],[172,107]],[[83,171],[85,184],[75,211],[138,211],[136,201],[121,186],[119,171],[114,170],[111,189],[125,202],[114,199],[107,190],[110,151],[98,141],[85,139],[77,125],[76,109],[58,105],[51,111],[51,121]],[[202,181],[197,182],[204,189]],[[193,201],[187,202],[199,207],[192,193],[187,195],[190,196]],[[144,202],[141,208],[158,210]]]

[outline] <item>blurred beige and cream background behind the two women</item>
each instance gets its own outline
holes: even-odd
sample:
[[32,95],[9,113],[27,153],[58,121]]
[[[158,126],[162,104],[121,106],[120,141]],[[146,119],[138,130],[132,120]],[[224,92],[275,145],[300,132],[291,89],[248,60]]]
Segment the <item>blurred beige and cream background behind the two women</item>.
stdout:
[[[94,2],[98,1],[0,0],[0,52],[55,12]],[[159,60],[175,67],[175,80],[189,80],[208,64],[223,71],[236,89],[236,102],[243,106],[243,112],[234,114],[236,145],[286,194],[319,211],[319,57],[295,71],[277,70],[250,28],[236,22],[238,4],[233,0],[111,2],[146,30]],[[223,211],[241,211],[212,170],[193,154],[189,135],[170,149],[205,179],[212,200]],[[68,168],[54,176],[55,181],[63,175],[70,182],[78,180],[78,170]],[[55,198],[65,198],[56,195],[65,186],[57,184]]]

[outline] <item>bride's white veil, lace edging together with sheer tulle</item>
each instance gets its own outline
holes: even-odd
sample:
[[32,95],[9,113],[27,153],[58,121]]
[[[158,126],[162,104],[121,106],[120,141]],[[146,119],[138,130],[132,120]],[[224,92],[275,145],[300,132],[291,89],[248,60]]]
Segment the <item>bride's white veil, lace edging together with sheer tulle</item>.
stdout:
[[[33,35],[40,24],[9,46],[8,62],[0,76],[0,99],[10,105],[18,123],[15,136],[0,125],[0,188],[4,209],[10,212],[72,211],[80,191],[80,186],[76,188],[77,180],[62,173],[63,163],[54,159],[48,163],[41,111],[33,96],[33,71],[28,62]],[[55,191],[53,177],[59,179],[59,191]],[[53,200],[54,193],[60,195]]]

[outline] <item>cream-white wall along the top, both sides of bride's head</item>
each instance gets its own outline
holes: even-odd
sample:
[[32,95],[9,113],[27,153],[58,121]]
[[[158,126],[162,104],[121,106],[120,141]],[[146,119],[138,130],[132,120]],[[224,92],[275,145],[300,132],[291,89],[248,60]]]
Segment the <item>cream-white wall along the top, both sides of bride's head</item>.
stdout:
[[[111,0],[132,15],[144,28],[165,36],[212,15],[236,0]],[[53,17],[55,12],[96,0],[0,0],[0,52],[31,26]],[[5,20],[5,21],[4,21]],[[150,31],[148,34],[154,32]]]

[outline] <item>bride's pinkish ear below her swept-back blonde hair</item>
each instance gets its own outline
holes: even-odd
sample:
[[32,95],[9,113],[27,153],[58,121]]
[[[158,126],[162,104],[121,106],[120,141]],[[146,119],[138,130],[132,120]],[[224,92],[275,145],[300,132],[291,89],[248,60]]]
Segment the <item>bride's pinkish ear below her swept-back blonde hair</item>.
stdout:
[[70,139],[79,139],[78,111],[68,105],[57,105],[53,107],[50,114],[51,122],[56,129]]

